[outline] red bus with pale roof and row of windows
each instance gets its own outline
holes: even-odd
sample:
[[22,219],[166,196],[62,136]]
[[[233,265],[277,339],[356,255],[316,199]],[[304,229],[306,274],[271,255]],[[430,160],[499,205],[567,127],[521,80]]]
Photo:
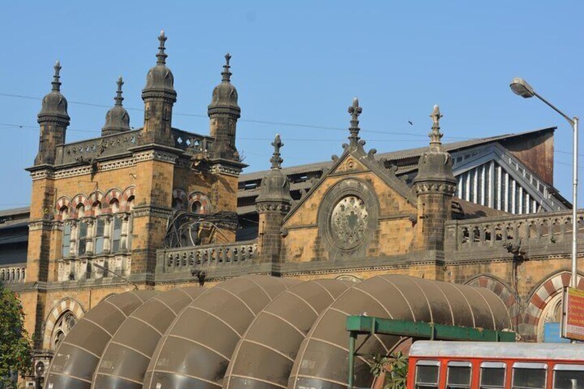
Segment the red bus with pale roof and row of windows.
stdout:
[[408,389],[584,389],[584,344],[416,341]]

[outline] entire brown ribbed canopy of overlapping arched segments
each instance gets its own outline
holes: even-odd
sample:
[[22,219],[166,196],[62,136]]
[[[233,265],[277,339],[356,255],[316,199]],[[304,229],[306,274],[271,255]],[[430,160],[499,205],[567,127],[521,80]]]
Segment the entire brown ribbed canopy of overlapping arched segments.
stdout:
[[[511,328],[492,291],[404,275],[299,282],[247,275],[213,288],[133,291],[103,300],[56,350],[46,388],[346,388],[347,315]],[[376,335],[361,354],[406,339]],[[373,376],[363,359],[359,387]]]

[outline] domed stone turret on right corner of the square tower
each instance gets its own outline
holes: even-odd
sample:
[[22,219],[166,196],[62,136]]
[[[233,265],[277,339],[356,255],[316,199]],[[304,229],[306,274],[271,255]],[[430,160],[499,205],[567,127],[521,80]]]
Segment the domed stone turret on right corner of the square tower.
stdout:
[[207,113],[211,119],[211,136],[215,138],[213,156],[239,162],[236,149],[237,120],[241,116],[236,87],[231,84],[229,61],[231,55],[225,54],[225,65],[221,72],[221,83],[213,89],[213,98]]

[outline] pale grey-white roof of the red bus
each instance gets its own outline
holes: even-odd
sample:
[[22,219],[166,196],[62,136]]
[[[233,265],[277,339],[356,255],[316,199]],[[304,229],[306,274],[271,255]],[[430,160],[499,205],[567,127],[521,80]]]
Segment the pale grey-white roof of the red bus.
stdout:
[[584,363],[584,344],[416,341],[410,348],[410,357],[570,359]]

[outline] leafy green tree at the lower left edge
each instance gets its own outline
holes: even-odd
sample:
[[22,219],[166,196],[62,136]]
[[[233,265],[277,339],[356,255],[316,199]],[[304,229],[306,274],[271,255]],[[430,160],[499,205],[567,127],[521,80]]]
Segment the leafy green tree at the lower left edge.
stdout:
[[0,388],[12,388],[12,376],[32,370],[32,346],[24,329],[17,295],[0,285]]

